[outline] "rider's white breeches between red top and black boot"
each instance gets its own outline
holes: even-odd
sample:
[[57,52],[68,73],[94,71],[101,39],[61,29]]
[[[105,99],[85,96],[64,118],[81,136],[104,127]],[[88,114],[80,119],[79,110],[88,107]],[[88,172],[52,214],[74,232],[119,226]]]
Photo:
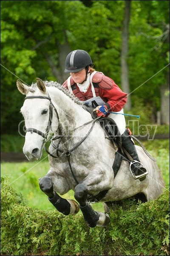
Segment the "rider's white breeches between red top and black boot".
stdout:
[[[116,112],[116,113],[121,113],[123,114],[123,109],[119,112]],[[113,114],[113,113],[110,113],[108,115],[109,118],[113,119],[114,122],[116,122],[116,125],[119,129],[119,132],[120,134],[122,135],[125,130],[126,130],[126,121],[125,121],[125,116],[124,115],[121,115],[121,114]]]

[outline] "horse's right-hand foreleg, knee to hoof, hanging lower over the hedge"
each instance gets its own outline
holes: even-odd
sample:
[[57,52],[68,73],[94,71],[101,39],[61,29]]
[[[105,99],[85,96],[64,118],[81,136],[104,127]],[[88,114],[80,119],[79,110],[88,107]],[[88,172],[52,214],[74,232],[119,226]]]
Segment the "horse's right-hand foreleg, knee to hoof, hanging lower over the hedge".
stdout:
[[78,184],[75,187],[75,194],[74,198],[79,202],[80,204],[80,209],[82,211],[83,217],[86,221],[86,223],[90,227],[105,227],[108,226],[110,223],[110,218],[109,215],[104,212],[96,212],[94,209],[91,207],[91,205],[87,202],[87,197],[88,197],[88,189],[85,184]]

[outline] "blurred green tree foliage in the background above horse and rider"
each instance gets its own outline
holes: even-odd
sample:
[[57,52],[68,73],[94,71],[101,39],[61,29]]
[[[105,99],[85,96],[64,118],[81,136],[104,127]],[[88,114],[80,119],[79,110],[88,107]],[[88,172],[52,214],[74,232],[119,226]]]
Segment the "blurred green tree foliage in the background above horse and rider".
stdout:
[[[125,1],[85,2],[1,1],[1,133],[17,132],[22,119],[24,98],[16,80],[31,84],[40,77],[62,83],[70,50],[87,50],[95,69],[121,87]],[[167,24],[168,1],[131,1],[127,61],[130,91],[136,96],[132,105],[142,98],[155,113],[168,72]]]

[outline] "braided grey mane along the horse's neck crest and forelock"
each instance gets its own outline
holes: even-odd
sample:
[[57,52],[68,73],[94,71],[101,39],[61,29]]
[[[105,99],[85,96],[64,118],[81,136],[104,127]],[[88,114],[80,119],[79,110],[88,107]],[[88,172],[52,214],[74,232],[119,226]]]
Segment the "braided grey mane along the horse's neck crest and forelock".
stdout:
[[[76,104],[78,105],[82,105],[82,102],[76,97],[74,96],[74,94],[72,94],[69,90],[67,90],[65,87],[62,86],[62,84],[59,84],[57,82],[54,81],[43,81],[44,85],[47,87],[56,87],[57,89],[61,90],[63,93],[65,93],[65,95],[67,95],[70,99],[72,99]],[[31,87],[28,89],[30,92],[34,92],[34,87],[37,87],[37,83],[35,84],[31,84]]]

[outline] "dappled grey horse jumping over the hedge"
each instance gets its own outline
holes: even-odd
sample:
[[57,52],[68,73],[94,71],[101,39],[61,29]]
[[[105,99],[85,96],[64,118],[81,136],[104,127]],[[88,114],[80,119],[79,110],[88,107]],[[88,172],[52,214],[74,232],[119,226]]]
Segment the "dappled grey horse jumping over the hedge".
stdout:
[[[37,78],[27,86],[18,79],[17,88],[26,95],[21,108],[26,126],[23,153],[30,161],[40,160],[45,143],[51,141],[47,151],[50,169],[39,185],[59,212],[73,215],[81,209],[90,227],[105,227],[110,223],[109,202],[138,194],[150,201],[163,192],[159,167],[138,145],[139,159],[148,172],[145,180],[133,178],[126,160],[115,176],[116,147],[82,102],[61,84]],[[75,200],[62,198],[69,190],[74,191]],[[88,198],[103,202],[105,212],[95,211]]]

